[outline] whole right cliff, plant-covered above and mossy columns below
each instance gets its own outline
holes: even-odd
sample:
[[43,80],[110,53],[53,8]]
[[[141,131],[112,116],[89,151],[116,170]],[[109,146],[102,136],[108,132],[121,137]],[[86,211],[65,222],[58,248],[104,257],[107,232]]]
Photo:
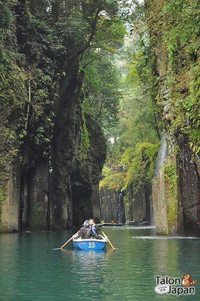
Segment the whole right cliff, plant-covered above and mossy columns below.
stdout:
[[153,51],[152,95],[167,141],[153,181],[157,234],[199,236],[199,4],[145,1]]

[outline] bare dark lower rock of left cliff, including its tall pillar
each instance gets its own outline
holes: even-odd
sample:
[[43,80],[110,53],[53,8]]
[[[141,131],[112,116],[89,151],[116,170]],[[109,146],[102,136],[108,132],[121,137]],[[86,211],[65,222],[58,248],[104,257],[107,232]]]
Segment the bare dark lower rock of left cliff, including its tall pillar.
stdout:
[[[5,176],[0,179],[0,231],[67,229],[90,217],[100,222],[98,183],[106,143],[94,120],[90,116],[83,119],[78,69],[74,57],[60,82],[49,149],[41,145],[35,153],[25,138],[18,156],[6,164]],[[87,148],[82,146],[84,122]],[[13,139],[11,143],[10,149]],[[6,148],[5,143],[5,152]]]

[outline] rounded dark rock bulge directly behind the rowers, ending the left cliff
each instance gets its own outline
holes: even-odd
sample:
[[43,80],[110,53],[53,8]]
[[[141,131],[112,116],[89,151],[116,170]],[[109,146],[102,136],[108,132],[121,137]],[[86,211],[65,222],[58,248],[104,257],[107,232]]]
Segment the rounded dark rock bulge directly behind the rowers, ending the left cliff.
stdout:
[[87,161],[83,164],[76,154],[70,176],[75,226],[91,217],[96,223],[100,222],[98,183],[105,159],[106,144],[100,129],[89,115],[86,116],[86,125],[90,142]]

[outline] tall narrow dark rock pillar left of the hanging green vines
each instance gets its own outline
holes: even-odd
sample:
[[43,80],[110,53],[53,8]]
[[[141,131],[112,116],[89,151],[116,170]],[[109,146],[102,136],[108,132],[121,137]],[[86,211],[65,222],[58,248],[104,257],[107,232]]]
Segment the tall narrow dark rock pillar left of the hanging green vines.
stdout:
[[51,162],[55,226],[58,229],[73,225],[70,174],[76,146],[80,145],[78,131],[81,122],[78,107],[81,81],[76,77],[78,68],[78,60],[75,58],[67,66],[67,75],[60,82],[59,98],[55,105]]

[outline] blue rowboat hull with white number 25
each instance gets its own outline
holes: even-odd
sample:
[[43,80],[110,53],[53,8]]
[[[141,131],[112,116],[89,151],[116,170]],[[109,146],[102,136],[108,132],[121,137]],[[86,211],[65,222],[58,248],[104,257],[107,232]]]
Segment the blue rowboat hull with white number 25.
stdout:
[[102,250],[106,245],[106,239],[102,237],[99,239],[76,239],[73,238],[73,247],[81,250]]

